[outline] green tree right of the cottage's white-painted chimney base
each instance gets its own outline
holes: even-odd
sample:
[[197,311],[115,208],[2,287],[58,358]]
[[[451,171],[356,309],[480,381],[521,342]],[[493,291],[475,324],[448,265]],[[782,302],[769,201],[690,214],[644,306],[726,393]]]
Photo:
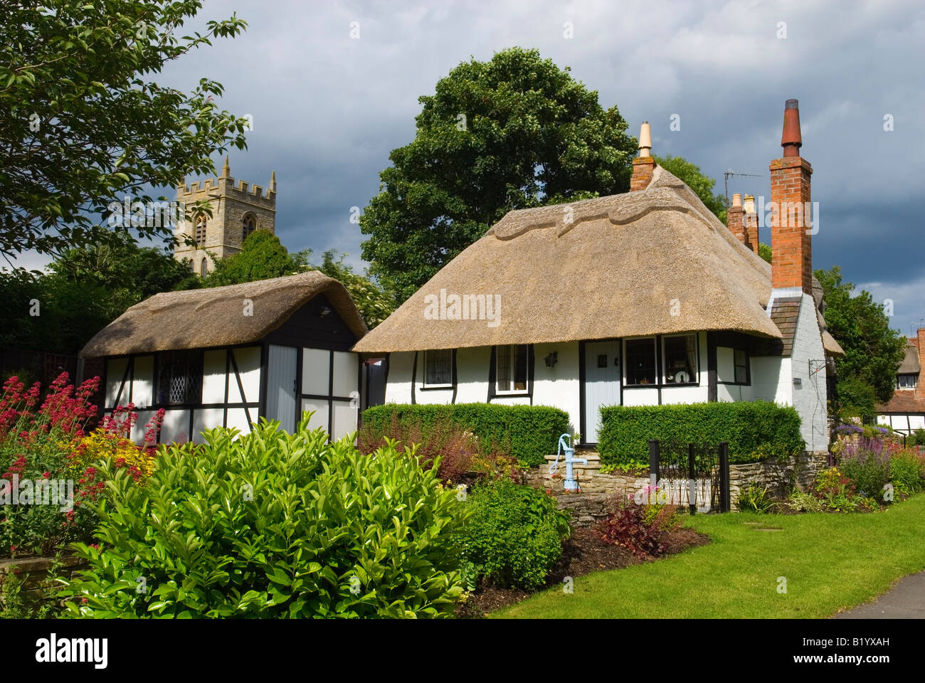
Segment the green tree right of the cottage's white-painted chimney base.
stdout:
[[890,318],[870,292],[856,292],[842,269],[816,270],[825,293],[825,324],[845,350],[835,358],[838,372],[833,408],[842,417],[872,418],[874,404],[889,401],[906,340],[890,327]]

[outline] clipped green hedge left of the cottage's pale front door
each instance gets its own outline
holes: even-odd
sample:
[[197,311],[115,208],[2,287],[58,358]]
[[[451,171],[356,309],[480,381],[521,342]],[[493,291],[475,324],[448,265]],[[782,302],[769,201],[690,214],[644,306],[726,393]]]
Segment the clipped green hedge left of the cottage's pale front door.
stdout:
[[364,411],[364,430],[386,433],[393,418],[402,431],[416,427],[422,435],[449,421],[475,434],[483,452],[513,455],[525,466],[542,465],[569,431],[569,416],[559,408],[500,404],[376,405]]

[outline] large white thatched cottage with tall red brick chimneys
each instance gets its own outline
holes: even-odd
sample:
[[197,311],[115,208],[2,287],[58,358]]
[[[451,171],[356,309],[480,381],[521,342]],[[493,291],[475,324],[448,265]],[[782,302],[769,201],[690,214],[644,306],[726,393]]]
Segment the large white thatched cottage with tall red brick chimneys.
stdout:
[[812,276],[801,144],[788,100],[773,266],[753,203],[736,197],[723,225],[655,163],[644,124],[630,192],[510,212],[354,351],[388,354],[387,402],[553,405],[593,444],[604,405],[764,399],[794,405],[824,451],[842,351]]

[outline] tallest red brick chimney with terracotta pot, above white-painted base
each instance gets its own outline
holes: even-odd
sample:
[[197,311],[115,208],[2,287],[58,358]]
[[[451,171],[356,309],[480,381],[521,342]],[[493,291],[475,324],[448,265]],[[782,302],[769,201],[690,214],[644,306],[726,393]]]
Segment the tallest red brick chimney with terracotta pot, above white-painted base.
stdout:
[[812,238],[808,234],[809,176],[812,167],[799,155],[800,110],[787,100],[783,110],[783,157],[771,162],[771,287],[800,288],[812,294]]

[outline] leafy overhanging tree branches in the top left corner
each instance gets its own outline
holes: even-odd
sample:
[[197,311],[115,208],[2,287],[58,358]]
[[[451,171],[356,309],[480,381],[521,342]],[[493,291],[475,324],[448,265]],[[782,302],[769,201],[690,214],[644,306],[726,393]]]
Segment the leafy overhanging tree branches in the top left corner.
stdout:
[[[199,0],[56,0],[0,4],[0,255],[125,239],[100,220],[130,195],[182,174],[214,172],[211,155],[245,147],[246,120],[216,106],[203,78],[191,93],[158,85],[169,62],[246,23],[208,21],[182,36]],[[182,36],[182,37],[181,37]],[[169,237],[169,226],[140,226]]]

